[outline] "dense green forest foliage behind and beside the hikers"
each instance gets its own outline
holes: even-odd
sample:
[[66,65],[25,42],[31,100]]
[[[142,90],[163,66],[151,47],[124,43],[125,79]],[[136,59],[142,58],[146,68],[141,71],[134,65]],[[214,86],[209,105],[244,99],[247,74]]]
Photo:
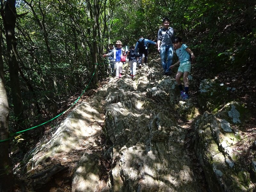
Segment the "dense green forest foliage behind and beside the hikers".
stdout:
[[[28,116],[24,124],[36,124],[35,119],[39,116],[35,104],[47,112],[47,98],[54,95],[61,106],[70,95],[83,90],[90,80],[92,42],[95,40],[92,36],[94,20],[88,14],[90,3],[43,0],[39,4],[32,1],[33,13],[25,2],[16,2],[18,14],[28,12],[17,17],[16,27],[18,62],[27,78],[20,77],[24,110]],[[168,16],[175,35],[181,36],[195,52],[196,68],[212,69],[213,73],[234,68],[244,72],[255,69],[256,9],[253,2],[138,0],[124,3],[101,0],[97,8],[98,63],[102,62],[101,55],[106,51],[103,47],[107,47],[109,41],[121,40],[129,46],[136,44],[139,36],[156,41],[161,19]],[[49,41],[52,62],[45,37]],[[4,70],[8,71],[6,63]],[[106,77],[106,71],[106,66],[99,66],[100,79]],[[12,115],[8,72],[5,79],[12,126],[17,119]],[[31,120],[33,123],[29,124],[27,121]]]

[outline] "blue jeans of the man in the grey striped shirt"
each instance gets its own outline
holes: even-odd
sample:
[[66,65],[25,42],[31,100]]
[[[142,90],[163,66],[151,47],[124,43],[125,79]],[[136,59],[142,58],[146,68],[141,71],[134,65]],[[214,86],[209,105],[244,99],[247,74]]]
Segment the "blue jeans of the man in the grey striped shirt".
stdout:
[[[172,45],[161,45],[160,56],[164,72],[171,71],[170,66],[172,65],[173,46]],[[167,62],[166,62],[167,56]]]

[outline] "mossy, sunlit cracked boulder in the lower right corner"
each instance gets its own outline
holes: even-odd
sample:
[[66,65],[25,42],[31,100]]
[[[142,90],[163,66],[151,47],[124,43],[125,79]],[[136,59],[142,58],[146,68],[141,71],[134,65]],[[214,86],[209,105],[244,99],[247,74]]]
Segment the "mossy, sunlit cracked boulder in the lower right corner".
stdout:
[[[226,109],[229,108],[224,109],[228,116],[229,110]],[[236,164],[238,159],[232,152],[232,142],[237,142],[234,132],[221,129],[220,116],[223,111],[219,113],[213,115],[205,112],[194,125],[195,151],[209,187],[212,191],[253,191],[255,187],[249,172]]]

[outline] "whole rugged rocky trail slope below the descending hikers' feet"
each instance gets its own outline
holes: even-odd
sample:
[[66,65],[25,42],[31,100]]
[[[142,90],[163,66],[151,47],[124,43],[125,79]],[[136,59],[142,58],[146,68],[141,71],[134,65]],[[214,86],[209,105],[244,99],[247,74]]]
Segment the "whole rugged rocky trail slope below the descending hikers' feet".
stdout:
[[[241,129],[250,122],[248,109],[217,102],[229,89],[192,78],[191,97],[182,101],[175,74],[162,76],[159,59],[139,69],[135,81],[127,64],[123,73],[25,156],[26,166],[17,166],[21,191],[255,190],[255,135]],[[241,145],[248,145],[247,156]]]

